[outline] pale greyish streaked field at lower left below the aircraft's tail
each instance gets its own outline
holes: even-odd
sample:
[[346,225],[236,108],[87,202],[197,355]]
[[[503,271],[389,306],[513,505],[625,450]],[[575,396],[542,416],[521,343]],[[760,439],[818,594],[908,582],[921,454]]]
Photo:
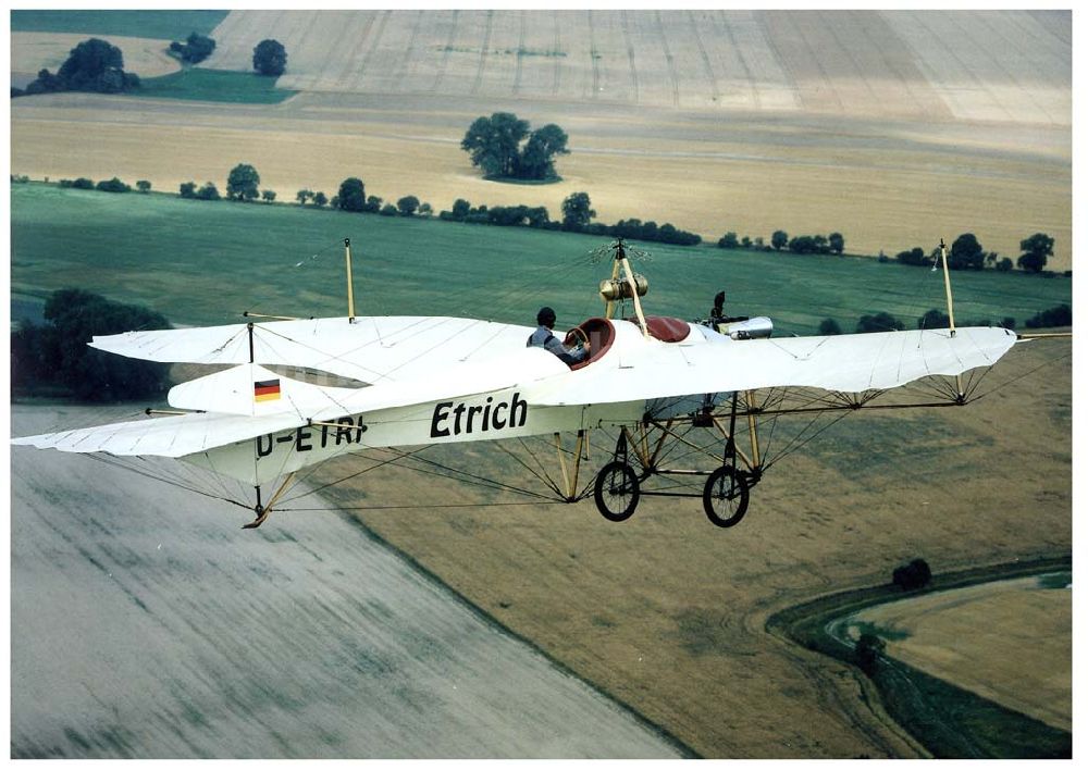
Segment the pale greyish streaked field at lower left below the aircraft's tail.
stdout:
[[680,754],[336,511],[243,532],[85,456],[11,472],[13,757]]

